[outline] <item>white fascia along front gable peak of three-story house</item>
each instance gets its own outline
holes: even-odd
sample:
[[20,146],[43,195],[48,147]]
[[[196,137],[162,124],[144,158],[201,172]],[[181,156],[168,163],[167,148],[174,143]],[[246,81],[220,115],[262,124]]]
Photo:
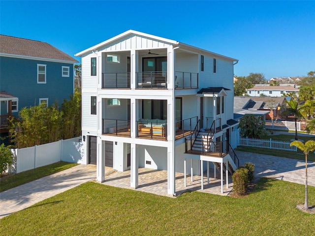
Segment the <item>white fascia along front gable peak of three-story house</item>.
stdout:
[[177,45],[179,43],[179,42],[177,42],[175,40],[162,38],[162,37],[158,37],[158,36],[155,36],[155,35],[152,35],[152,34],[143,33],[143,32],[139,32],[139,31],[135,31],[135,30],[129,29],[126,32],[118,34],[115,37],[112,37],[110,39],[107,39],[107,40],[99,43],[99,44],[96,44],[95,46],[93,46],[91,48],[83,50],[82,52],[79,52],[79,53],[75,54],[74,56],[81,57],[81,56],[83,56],[86,53],[89,53],[89,52],[94,51],[94,50],[96,50],[98,48],[101,48],[101,47],[105,46],[106,44],[112,43],[112,42],[114,42],[114,41],[116,41],[116,40],[118,40],[120,38],[126,37],[126,36],[128,36],[130,34],[135,34],[135,35],[139,35],[139,36],[143,36],[143,37],[147,37],[147,38],[152,38],[152,39],[155,39],[155,40],[159,40],[159,41],[163,41],[163,42],[167,42],[167,43],[175,44],[175,45]]

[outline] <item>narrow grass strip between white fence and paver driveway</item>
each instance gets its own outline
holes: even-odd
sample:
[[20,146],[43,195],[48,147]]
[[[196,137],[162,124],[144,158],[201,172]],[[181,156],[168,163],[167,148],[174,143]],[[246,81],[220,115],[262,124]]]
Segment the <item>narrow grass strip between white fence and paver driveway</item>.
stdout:
[[51,165],[38,167],[33,170],[24,171],[19,174],[7,176],[4,178],[1,178],[0,180],[0,192],[3,192],[5,190],[8,190],[10,188],[17,187],[19,185],[31,182],[33,180],[36,180],[38,178],[42,178],[45,176],[49,176],[52,174],[55,174],[57,172],[66,170],[68,168],[74,167],[78,164],[76,163],[69,163],[69,162],[56,162]]

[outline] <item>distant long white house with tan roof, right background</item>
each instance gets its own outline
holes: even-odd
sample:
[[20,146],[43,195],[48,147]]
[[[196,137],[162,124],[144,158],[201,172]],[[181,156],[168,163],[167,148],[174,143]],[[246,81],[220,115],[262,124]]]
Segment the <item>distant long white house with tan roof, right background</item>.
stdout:
[[252,89],[247,89],[247,95],[251,97],[256,96],[272,96],[272,97],[282,97],[284,94],[295,93],[298,96],[300,89],[295,88],[295,86],[254,86]]

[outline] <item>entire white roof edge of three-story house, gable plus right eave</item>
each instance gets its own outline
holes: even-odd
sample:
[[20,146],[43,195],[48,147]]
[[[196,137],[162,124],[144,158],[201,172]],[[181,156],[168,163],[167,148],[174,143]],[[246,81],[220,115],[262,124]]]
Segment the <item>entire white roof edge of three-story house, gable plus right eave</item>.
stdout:
[[238,59],[229,58],[229,57],[217,54],[217,53],[213,53],[213,52],[201,49],[201,48],[197,48],[197,47],[185,44],[185,43],[178,42],[176,40],[167,39],[167,38],[155,36],[155,35],[148,34],[148,33],[143,33],[143,32],[139,32],[139,31],[132,30],[132,29],[129,29],[129,30],[127,30],[127,31],[125,31],[125,32],[115,36],[115,37],[112,37],[112,38],[110,38],[110,39],[108,39],[108,40],[106,40],[104,42],[96,44],[93,47],[90,47],[90,48],[88,48],[86,50],[83,50],[82,52],[77,53],[75,56],[81,57],[81,56],[83,56],[83,55],[85,55],[85,54],[87,54],[89,52],[98,50],[98,49],[100,49],[100,48],[102,48],[102,47],[104,47],[106,45],[110,45],[110,44],[112,44],[115,41],[119,41],[119,40],[121,40],[123,38],[126,38],[128,36],[131,36],[131,35],[139,35],[139,36],[150,38],[150,39],[157,40],[157,41],[160,41],[160,42],[165,42],[165,43],[168,43],[168,44],[172,44],[174,46],[183,46],[183,47],[186,47],[186,48],[189,48],[189,49],[192,49],[192,50],[196,50],[196,51],[198,51],[200,53],[212,54],[212,55],[214,55],[216,57],[227,59],[227,60],[230,60],[230,61],[238,61]]

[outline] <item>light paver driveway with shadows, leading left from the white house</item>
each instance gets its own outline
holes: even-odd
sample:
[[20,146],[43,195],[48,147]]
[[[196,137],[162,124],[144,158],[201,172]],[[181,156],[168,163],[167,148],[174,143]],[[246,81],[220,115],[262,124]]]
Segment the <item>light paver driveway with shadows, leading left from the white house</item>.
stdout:
[[78,165],[0,193],[0,218],[95,179],[95,165]]

